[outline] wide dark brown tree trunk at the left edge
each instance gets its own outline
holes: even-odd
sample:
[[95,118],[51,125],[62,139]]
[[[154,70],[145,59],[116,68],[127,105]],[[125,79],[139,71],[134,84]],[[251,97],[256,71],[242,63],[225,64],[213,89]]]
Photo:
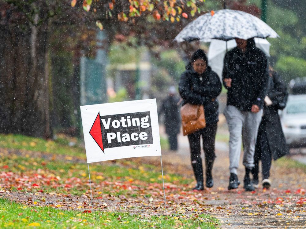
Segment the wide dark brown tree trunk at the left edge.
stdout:
[[51,136],[48,26],[0,25],[0,133]]

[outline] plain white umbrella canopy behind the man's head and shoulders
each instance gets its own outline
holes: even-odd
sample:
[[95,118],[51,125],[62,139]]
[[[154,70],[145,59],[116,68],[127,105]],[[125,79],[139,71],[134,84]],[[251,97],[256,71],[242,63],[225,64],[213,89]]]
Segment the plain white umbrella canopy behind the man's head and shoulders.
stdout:
[[[263,50],[263,52],[270,56],[270,43],[266,39],[254,38],[255,45],[257,48]],[[211,66],[211,69],[215,71],[218,76],[222,77],[223,70],[223,60],[227,50],[231,50],[237,46],[235,40],[230,40],[227,42],[222,40],[211,40],[209,45],[209,50],[207,54],[208,65]]]

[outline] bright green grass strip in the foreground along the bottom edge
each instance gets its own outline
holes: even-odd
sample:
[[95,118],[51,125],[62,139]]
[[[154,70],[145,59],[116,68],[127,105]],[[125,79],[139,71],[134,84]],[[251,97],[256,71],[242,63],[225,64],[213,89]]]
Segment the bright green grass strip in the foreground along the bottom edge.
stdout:
[[29,207],[0,198],[0,228],[215,228],[209,215],[142,216],[129,213],[67,211]]

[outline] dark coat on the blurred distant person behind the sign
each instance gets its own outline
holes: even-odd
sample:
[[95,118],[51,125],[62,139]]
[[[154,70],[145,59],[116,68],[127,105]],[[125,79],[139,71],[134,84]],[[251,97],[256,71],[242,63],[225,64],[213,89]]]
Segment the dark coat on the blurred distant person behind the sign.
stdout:
[[162,106],[159,109],[158,115],[165,114],[165,128],[167,135],[176,135],[180,133],[181,128],[181,116],[177,103],[179,98],[175,96],[167,96],[162,102]]

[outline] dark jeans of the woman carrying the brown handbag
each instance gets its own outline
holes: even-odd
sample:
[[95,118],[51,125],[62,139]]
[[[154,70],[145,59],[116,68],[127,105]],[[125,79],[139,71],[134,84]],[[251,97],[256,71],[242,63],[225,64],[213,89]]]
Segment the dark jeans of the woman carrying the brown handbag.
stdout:
[[205,161],[214,161],[215,154],[215,137],[217,132],[217,123],[207,124],[205,128],[196,131],[195,133],[189,134],[189,145],[191,153],[191,162],[196,161],[200,158],[201,146],[200,137],[203,138],[203,150],[205,154]]

